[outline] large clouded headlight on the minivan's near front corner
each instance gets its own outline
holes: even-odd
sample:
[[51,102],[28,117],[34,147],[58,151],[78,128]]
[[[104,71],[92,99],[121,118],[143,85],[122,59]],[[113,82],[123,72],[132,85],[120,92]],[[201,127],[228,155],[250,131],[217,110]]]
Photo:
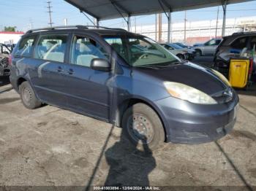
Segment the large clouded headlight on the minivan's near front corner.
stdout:
[[165,88],[175,98],[190,101],[194,104],[217,104],[217,101],[200,90],[177,82],[164,82]]

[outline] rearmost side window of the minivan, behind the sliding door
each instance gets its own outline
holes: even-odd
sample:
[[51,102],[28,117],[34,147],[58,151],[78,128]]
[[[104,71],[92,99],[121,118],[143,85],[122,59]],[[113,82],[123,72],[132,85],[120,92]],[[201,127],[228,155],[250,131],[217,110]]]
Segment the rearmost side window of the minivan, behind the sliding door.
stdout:
[[14,55],[31,57],[34,47],[35,36],[28,36],[20,40]]

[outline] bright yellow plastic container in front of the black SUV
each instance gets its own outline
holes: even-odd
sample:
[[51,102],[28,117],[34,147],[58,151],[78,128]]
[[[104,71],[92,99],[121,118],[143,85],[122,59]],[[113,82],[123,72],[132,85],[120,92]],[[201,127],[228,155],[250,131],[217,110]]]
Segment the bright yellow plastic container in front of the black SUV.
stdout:
[[230,59],[229,81],[232,87],[245,87],[248,81],[249,59]]

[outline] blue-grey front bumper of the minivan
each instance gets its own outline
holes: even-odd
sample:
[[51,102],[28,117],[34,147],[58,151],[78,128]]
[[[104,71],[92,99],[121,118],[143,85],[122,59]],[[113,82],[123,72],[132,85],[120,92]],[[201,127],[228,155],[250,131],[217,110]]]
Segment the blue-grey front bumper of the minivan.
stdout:
[[177,98],[157,101],[165,124],[166,140],[201,144],[222,138],[236,122],[238,96],[225,104],[199,105]]

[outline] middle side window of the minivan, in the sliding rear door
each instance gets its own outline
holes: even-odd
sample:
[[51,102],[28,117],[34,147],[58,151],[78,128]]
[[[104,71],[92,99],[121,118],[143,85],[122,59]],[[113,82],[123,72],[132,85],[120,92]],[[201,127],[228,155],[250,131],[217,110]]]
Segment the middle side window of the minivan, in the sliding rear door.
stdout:
[[35,49],[35,58],[64,62],[67,35],[41,36]]

